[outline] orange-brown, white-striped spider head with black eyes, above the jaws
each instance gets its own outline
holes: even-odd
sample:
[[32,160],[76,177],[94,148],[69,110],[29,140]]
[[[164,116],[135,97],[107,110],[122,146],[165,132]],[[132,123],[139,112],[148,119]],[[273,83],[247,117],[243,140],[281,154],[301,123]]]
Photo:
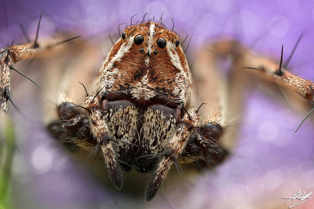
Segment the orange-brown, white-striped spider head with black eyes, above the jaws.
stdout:
[[191,96],[191,77],[177,34],[162,23],[127,27],[100,69],[98,88],[103,87],[102,100],[184,107]]

